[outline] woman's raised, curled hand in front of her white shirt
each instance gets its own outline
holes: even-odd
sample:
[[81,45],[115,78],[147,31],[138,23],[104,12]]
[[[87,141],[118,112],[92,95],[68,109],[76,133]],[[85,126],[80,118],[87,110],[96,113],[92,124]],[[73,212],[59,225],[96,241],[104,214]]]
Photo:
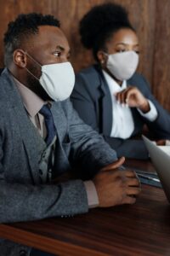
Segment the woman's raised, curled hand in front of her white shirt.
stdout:
[[139,108],[143,113],[150,111],[150,104],[138,88],[129,86],[127,89],[116,93],[116,100],[121,104],[127,104],[130,108]]

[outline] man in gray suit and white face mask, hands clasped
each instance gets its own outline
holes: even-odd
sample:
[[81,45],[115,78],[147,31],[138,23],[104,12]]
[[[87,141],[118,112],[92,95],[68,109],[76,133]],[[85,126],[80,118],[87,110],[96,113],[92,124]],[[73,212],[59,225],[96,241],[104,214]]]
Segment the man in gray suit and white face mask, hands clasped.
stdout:
[[[75,78],[59,20],[50,15],[19,15],[8,25],[4,46],[0,222],[133,204],[140,191],[135,173],[119,170],[124,158],[116,159],[115,151],[79,119],[68,99]],[[59,183],[59,177],[73,168],[86,181]],[[9,241],[2,241],[0,249],[8,256],[19,255],[20,250],[38,255]]]

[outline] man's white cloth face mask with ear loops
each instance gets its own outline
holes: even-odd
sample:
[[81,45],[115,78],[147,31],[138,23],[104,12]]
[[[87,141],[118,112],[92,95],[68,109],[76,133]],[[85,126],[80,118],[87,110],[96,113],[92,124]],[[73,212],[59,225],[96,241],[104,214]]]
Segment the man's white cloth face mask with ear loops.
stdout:
[[[28,55],[28,53],[26,53]],[[31,60],[35,61],[31,55],[28,55]],[[47,92],[54,101],[60,102],[71,96],[75,84],[75,73],[71,62],[62,62],[57,64],[40,65],[35,61],[38,66],[42,67],[42,75],[39,82],[43,89]],[[26,70],[31,73],[27,68]],[[31,73],[37,79],[37,77]]]

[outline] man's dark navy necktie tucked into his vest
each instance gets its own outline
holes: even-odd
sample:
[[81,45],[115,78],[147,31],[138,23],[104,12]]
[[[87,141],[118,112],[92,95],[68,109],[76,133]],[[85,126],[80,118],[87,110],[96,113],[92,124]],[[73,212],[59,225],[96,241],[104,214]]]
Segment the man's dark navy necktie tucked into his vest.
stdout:
[[53,141],[54,136],[56,135],[53,115],[48,107],[48,104],[43,105],[39,113],[43,115],[45,120],[45,125],[47,128],[47,137],[45,138],[45,142],[47,143],[47,145],[49,145]]

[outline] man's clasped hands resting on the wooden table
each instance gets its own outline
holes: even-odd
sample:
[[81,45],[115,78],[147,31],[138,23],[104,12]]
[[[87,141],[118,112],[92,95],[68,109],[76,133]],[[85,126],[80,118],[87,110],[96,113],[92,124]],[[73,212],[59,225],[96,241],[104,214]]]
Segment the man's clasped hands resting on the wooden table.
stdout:
[[139,179],[135,172],[118,170],[125,158],[105,166],[94,177],[94,185],[99,196],[99,207],[113,207],[122,204],[133,204],[140,192]]

